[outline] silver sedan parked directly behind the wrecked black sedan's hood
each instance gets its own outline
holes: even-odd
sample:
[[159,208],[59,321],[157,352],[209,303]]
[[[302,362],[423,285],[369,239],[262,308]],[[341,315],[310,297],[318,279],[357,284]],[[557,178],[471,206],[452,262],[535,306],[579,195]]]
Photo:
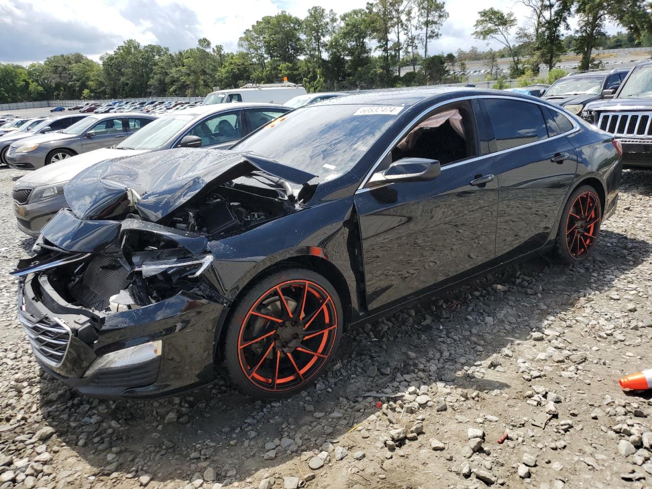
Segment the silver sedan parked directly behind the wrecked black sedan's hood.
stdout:
[[41,228],[66,207],[63,186],[77,173],[100,161],[173,147],[226,149],[289,110],[272,104],[219,104],[175,111],[156,119],[115,147],[96,149],[31,171],[14,185],[18,229],[38,236]]

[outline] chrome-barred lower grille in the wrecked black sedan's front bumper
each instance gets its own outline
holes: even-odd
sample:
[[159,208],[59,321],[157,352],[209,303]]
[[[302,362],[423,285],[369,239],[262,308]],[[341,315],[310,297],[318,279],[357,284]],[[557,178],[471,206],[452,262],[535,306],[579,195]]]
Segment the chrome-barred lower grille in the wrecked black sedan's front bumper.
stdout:
[[45,363],[59,366],[70,342],[68,326],[57,318],[42,318],[35,323],[22,317],[20,319],[37,357]]

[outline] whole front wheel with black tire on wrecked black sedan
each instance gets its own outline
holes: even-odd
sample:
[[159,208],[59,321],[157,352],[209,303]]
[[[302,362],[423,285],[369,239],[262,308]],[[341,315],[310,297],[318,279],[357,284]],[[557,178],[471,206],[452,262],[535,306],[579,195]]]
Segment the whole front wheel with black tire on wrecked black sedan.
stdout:
[[292,268],[266,276],[237,301],[225,325],[228,375],[259,399],[303,391],[331,363],[343,318],[337,291],[318,273]]

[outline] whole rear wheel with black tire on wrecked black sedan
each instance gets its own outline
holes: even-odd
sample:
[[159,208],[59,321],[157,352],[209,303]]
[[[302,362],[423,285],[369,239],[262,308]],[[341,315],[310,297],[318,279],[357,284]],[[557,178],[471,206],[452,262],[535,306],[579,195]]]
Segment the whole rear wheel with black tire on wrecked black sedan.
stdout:
[[554,254],[563,263],[582,263],[591,256],[602,224],[602,203],[595,188],[581,185],[564,206]]

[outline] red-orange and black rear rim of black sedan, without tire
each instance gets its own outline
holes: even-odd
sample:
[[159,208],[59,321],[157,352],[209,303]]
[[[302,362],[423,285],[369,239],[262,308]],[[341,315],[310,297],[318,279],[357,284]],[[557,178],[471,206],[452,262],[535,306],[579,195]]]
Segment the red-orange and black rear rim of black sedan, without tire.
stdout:
[[580,259],[593,248],[601,218],[600,201],[593,192],[575,198],[566,218],[566,244],[573,258]]

